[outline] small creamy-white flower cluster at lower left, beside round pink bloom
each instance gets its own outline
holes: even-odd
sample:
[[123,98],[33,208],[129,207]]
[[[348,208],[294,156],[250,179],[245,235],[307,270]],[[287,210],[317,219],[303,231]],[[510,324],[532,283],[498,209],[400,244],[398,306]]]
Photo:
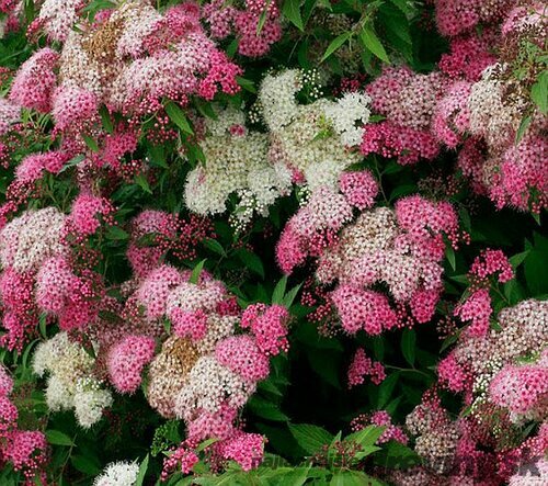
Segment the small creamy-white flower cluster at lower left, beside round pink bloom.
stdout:
[[96,423],[104,408],[112,405],[112,395],[93,376],[94,359],[66,332],[42,342],[34,353],[33,370],[38,376],[46,372],[46,403],[50,410],[75,409],[83,428]]

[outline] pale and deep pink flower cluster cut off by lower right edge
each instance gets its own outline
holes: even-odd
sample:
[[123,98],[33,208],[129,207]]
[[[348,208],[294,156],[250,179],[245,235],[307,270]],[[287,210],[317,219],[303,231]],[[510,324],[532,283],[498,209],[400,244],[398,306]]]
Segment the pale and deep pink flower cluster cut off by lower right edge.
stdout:
[[523,360],[548,343],[548,304],[524,301],[501,310],[498,323],[499,330],[460,335],[456,348],[438,365],[439,382],[464,393],[479,417],[483,404],[491,403],[506,409],[512,421],[544,420],[546,351],[530,364]]

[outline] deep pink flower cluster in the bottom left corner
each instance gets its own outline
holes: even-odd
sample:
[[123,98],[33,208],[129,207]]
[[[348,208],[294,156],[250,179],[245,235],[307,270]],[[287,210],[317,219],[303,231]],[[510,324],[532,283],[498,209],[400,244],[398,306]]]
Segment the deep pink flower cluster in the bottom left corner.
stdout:
[[46,438],[39,431],[18,427],[18,409],[9,398],[12,388],[12,378],[0,368],[0,463],[9,462],[21,471],[25,485],[45,483]]

